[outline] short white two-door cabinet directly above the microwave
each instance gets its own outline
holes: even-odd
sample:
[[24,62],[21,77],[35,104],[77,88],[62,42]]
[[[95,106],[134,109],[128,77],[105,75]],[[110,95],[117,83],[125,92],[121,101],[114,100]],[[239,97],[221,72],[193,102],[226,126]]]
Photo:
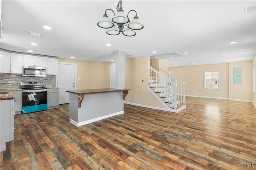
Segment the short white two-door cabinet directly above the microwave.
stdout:
[[22,55],[23,66],[46,67],[46,57],[34,55]]

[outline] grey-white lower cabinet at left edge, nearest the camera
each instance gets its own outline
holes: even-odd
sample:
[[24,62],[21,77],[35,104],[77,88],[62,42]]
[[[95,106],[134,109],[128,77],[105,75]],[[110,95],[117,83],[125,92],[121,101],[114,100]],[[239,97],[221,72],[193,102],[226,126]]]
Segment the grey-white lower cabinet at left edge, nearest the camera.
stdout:
[[14,139],[13,100],[0,101],[0,151],[6,150],[6,142]]

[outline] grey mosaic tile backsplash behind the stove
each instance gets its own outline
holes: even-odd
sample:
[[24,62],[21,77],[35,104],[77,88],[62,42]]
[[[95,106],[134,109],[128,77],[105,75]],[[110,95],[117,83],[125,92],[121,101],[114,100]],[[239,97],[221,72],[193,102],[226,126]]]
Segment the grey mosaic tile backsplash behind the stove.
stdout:
[[55,87],[56,76],[46,75],[46,77],[22,77],[21,74],[0,74],[0,89],[20,88],[20,82],[43,81],[46,88]]

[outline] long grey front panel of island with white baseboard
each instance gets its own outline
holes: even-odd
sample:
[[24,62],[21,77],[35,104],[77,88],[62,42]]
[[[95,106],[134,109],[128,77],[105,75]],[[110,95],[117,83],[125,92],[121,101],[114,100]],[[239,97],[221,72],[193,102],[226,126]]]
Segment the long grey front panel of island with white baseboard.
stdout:
[[78,126],[124,113],[123,92],[85,94],[78,108]]

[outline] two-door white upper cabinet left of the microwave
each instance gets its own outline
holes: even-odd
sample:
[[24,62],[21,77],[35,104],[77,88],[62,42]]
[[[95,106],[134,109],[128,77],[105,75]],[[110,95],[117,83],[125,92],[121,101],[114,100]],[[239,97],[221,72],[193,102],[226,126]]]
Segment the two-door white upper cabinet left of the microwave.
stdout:
[[0,72],[21,74],[22,72],[22,55],[0,51],[1,67]]

